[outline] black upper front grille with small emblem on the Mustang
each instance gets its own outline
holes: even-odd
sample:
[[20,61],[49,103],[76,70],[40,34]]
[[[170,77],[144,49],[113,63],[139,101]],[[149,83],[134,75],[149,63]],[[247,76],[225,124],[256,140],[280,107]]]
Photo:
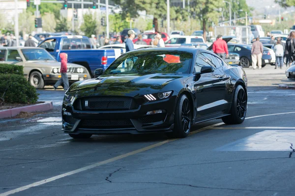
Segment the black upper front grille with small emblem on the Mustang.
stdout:
[[[82,110],[117,111],[137,109],[139,105],[131,97],[104,96],[80,98]],[[75,108],[76,109],[76,108]]]

